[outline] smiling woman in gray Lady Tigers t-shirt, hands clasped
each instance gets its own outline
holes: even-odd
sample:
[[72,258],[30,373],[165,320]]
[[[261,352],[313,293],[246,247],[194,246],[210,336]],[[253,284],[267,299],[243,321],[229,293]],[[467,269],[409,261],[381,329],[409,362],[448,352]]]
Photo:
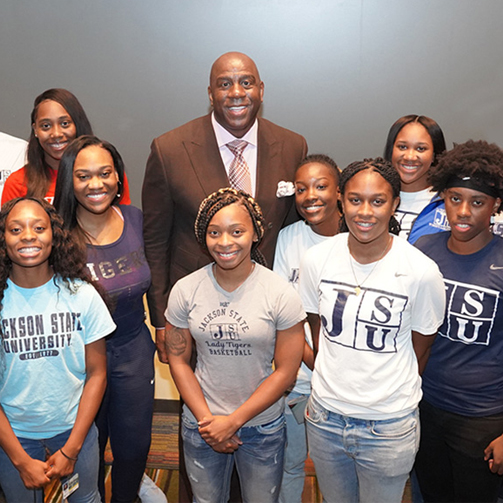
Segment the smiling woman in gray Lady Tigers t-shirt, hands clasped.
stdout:
[[305,313],[296,292],[263,266],[264,218],[253,198],[232,188],[214,192],[199,207],[195,233],[214,263],[178,281],[166,309],[194,499],[228,501],[235,463],[244,501],[276,503],[282,395],[300,365]]

